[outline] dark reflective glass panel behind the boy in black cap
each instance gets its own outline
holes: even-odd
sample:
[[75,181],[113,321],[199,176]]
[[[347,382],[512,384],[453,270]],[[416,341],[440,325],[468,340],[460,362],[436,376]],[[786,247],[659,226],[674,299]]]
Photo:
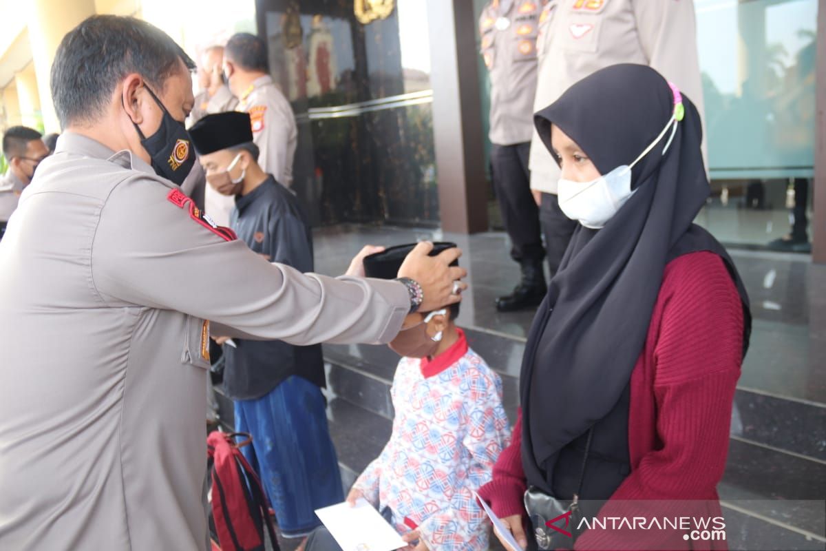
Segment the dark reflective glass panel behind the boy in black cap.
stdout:
[[258,7],[298,123],[293,188],[313,223],[438,225],[426,2]]

